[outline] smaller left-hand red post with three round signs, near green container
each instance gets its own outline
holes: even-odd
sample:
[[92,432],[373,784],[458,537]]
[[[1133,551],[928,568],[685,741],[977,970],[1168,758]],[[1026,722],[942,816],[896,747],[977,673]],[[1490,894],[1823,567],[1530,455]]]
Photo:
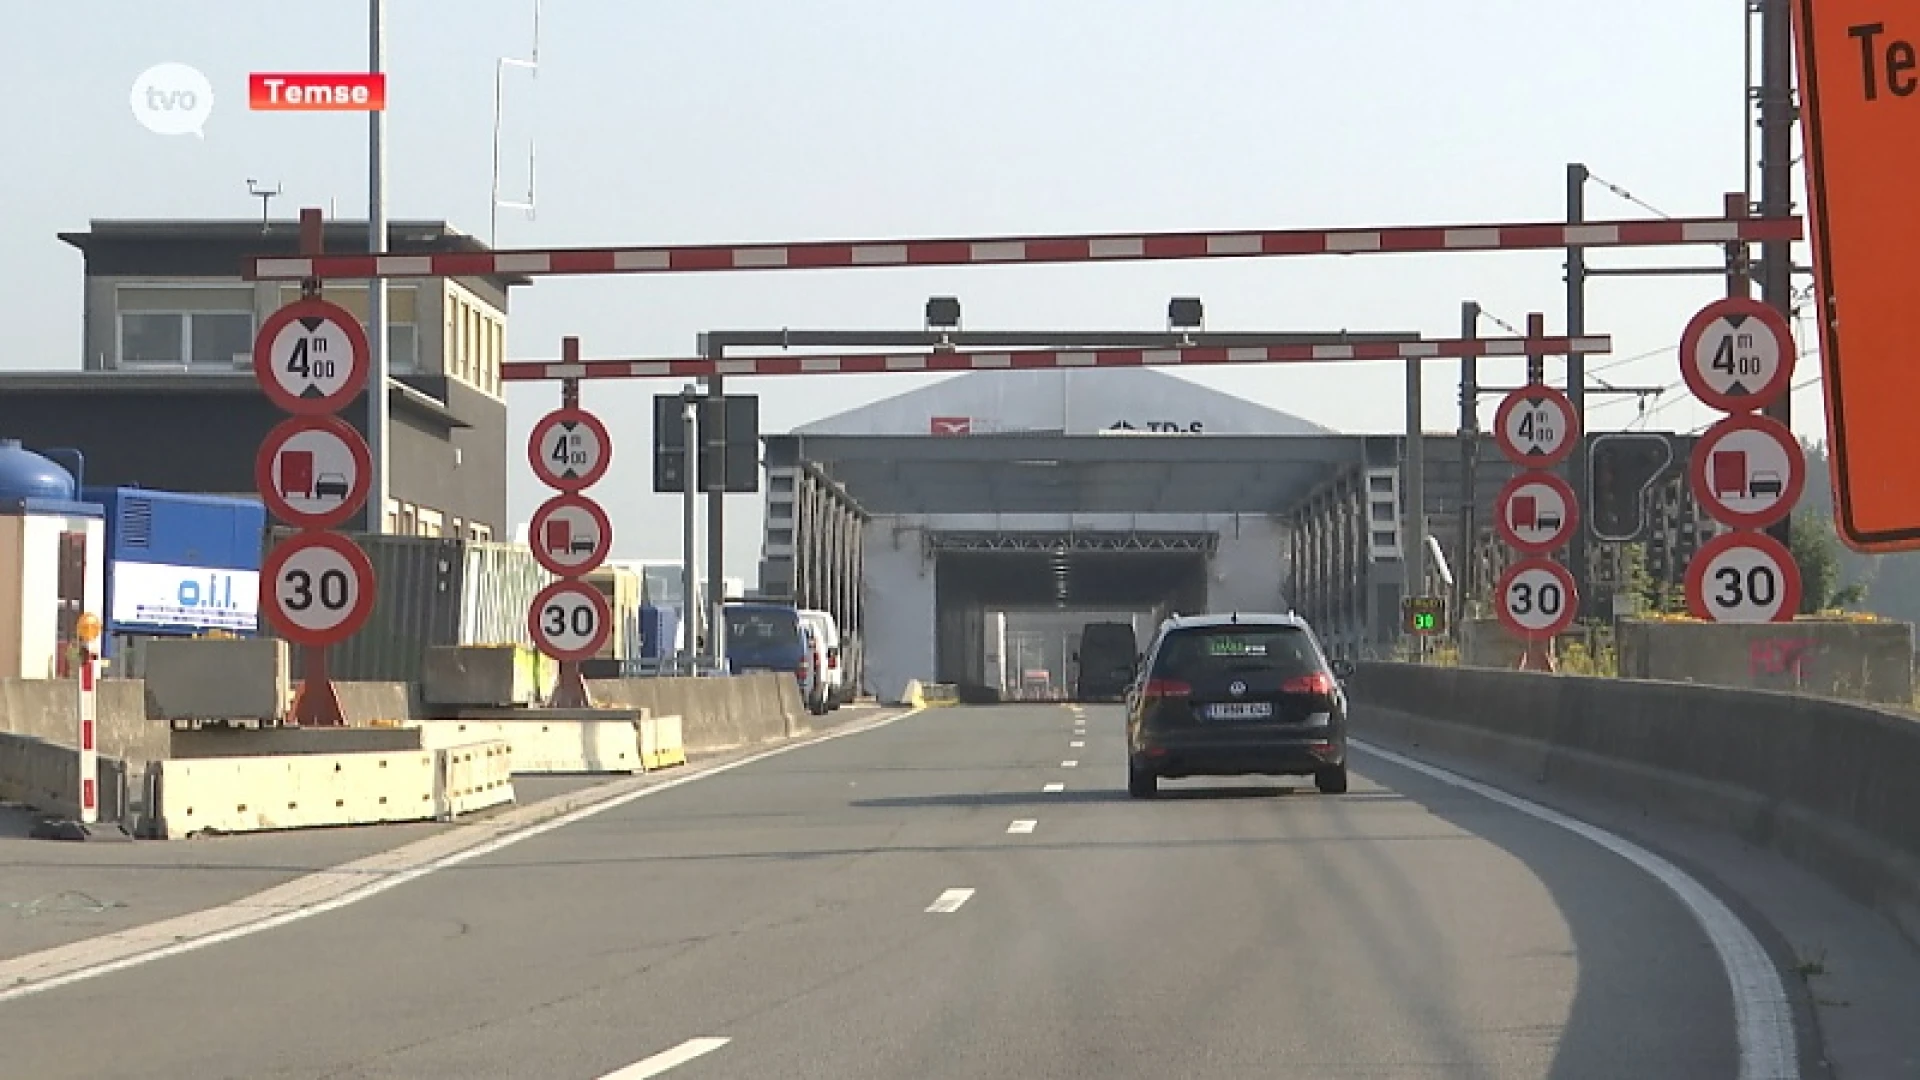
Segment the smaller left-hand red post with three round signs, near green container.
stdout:
[[[566,363],[580,361],[580,338],[563,338]],[[526,630],[541,653],[561,663],[561,676],[547,698],[555,709],[586,709],[582,663],[612,636],[612,607],[599,588],[584,580],[612,553],[612,521],[588,498],[612,465],[607,425],[580,407],[580,380],[561,380],[561,407],[541,417],[526,440],[534,477],[555,492],[528,527],[534,559],[559,580],[540,590],[526,611]]]

